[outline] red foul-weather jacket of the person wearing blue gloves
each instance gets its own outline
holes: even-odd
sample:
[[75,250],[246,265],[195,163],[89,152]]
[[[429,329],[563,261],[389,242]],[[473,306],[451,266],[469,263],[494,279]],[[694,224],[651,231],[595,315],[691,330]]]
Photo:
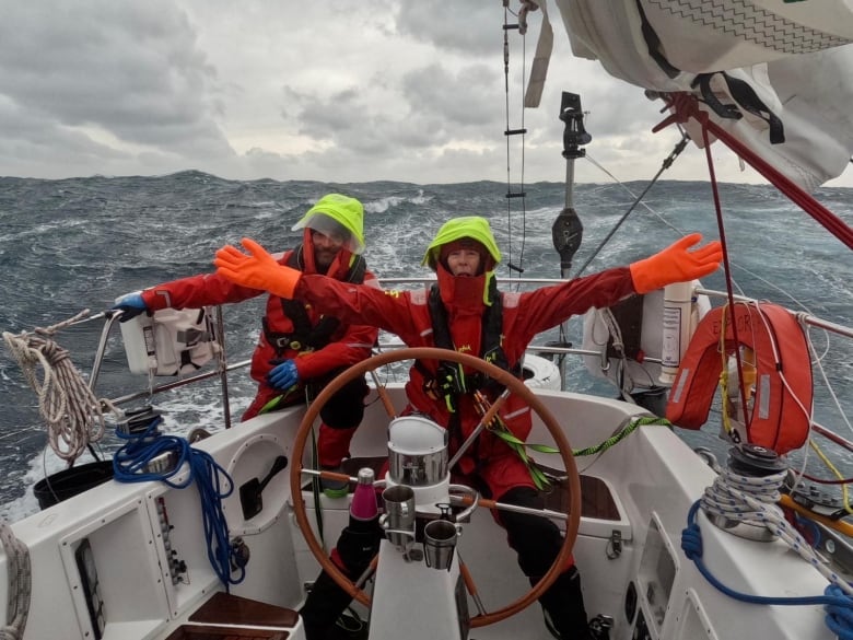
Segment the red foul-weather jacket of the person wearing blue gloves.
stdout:
[[[303,246],[312,247],[311,241],[305,242]],[[311,249],[306,248],[306,254],[307,251]],[[279,264],[285,265],[292,254],[293,252],[290,251],[276,257]],[[346,278],[349,270],[346,268],[346,265],[349,264],[350,255],[349,252],[342,249],[329,266],[327,274],[335,278]],[[305,256],[305,258],[301,270],[305,274],[316,274],[313,255]],[[291,266],[292,263],[291,260]],[[364,272],[363,282],[367,288],[378,290],[378,280],[371,271]],[[234,284],[215,274],[205,274],[147,289],[142,292],[142,300],[152,311],[170,307],[198,309],[209,304],[242,302],[262,293],[265,291]],[[307,303],[304,306],[311,324],[315,325],[319,322],[324,314],[323,310]],[[264,324],[270,331],[277,334],[290,334],[294,330],[293,322],[284,314],[281,298],[277,295],[268,296]],[[360,318],[354,317],[351,318],[351,322],[341,319],[341,323],[331,334],[329,342],[320,349],[315,351],[295,351],[291,348],[284,348],[282,351],[277,351],[269,342],[266,330],[261,329],[258,345],[252,356],[252,377],[258,383],[258,393],[243,419],[252,418],[268,400],[281,394],[280,391],[273,389],[267,384],[267,373],[274,366],[270,364],[270,361],[292,359],[296,363],[300,382],[304,384],[313,379],[322,379],[337,369],[350,366],[370,358],[371,349],[376,342],[378,330],[374,326],[364,325]],[[302,393],[296,395],[304,398]]]

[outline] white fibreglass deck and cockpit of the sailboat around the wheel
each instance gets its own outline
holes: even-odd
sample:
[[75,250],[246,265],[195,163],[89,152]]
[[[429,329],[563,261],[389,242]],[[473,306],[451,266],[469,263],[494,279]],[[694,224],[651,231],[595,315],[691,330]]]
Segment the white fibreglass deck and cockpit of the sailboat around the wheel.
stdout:
[[[390,392],[402,407],[401,388],[395,386]],[[639,410],[623,403],[564,392],[540,391],[538,395],[563,417],[574,447],[608,438],[632,411]],[[277,456],[290,456],[301,415],[301,409],[289,409],[262,416],[196,446],[213,454],[241,486],[264,477]],[[381,404],[372,404],[353,441],[354,457],[381,455],[386,423]],[[548,442],[541,424],[536,424],[530,441]],[[714,473],[668,429],[639,429],[607,450],[584,473],[600,480],[599,488],[608,490],[618,514],[611,519],[582,517],[574,547],[587,612],[591,616],[612,616],[614,640],[833,637],[826,628],[821,607],[768,608],[738,603],[709,585],[685,558],[680,535],[687,511],[713,481]],[[180,481],[182,477],[174,479]],[[295,527],[287,473],[268,485],[262,493],[262,511],[248,521],[243,519],[236,493],[224,500],[223,509],[232,536],[243,537],[250,559],[245,581],[233,586],[231,593],[296,609],[303,600],[303,585],[314,580],[318,566]],[[347,522],[347,500],[323,500],[327,507],[326,539],[334,540]],[[728,586],[764,595],[822,593],[826,580],[783,543],[745,540],[711,525],[702,515],[699,520],[704,561]],[[83,546],[91,548],[96,571],[95,601],[103,603],[98,609],[104,621],[102,640],[183,638],[175,636],[178,628],[189,624],[199,607],[222,591],[207,558],[200,522],[198,493],[191,487],[109,481],[16,523],[15,534],[30,548],[34,585],[24,640],[59,637],[58,630],[69,640],[97,637],[87,605],[93,598],[86,596],[77,561]],[[502,607],[527,590],[505,535],[486,511],[475,511],[470,524],[464,526],[458,550],[487,609]],[[182,562],[186,571],[180,571]],[[8,568],[4,556],[0,557],[0,568]],[[378,571],[382,569],[381,563]],[[0,600],[7,598],[5,590],[5,583],[0,584]],[[420,604],[400,592],[395,606],[416,610]],[[367,618],[366,609],[357,610]],[[472,603],[469,610],[475,612]],[[633,636],[642,626],[647,627],[647,635]],[[299,622],[287,632],[291,639],[302,637]],[[545,640],[549,635],[539,606],[533,605],[507,620],[472,630],[470,638]]]

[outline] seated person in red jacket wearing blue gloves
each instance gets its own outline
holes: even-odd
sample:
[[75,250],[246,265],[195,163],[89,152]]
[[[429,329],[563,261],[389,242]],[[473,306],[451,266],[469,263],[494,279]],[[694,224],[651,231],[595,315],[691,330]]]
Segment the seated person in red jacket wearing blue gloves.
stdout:
[[[340,282],[378,289],[364,257],[364,209],[357,199],[339,194],[320,198],[293,226],[304,229],[302,244],[274,259],[301,274],[323,275]],[[215,274],[205,274],[157,284],[127,295],[114,309],[120,322],[160,309],[200,307],[242,302],[265,293],[264,289],[235,284]],[[267,299],[262,330],[252,357],[252,377],[258,383],[255,399],[243,414],[248,420],[269,410],[305,402],[347,366],[370,358],[378,331],[355,318],[341,322],[306,300]],[[364,380],[353,381],[326,404],[320,416],[319,462],[337,468],[348,454],[352,432],[364,414]],[[327,487],[328,488],[328,487]],[[346,487],[339,487],[346,491]],[[335,493],[334,490],[329,492]]]

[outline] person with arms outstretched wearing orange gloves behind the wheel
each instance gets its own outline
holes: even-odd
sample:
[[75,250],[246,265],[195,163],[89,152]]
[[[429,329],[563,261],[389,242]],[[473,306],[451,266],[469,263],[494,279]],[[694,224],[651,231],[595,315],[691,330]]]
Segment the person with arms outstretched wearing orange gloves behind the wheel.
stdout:
[[[693,234],[630,266],[523,293],[498,291],[493,269],[501,253],[489,222],[479,217],[456,218],[441,228],[423,258],[437,276],[437,283],[429,289],[378,291],[342,286],[282,267],[248,238],[243,240],[243,246],[250,255],[226,246],[217,253],[214,264],[219,275],[234,282],[285,298],[305,298],[326,313],[393,331],[409,347],[474,353],[519,375],[522,357],[536,334],[591,307],[610,306],[629,294],[646,293],[716,270],[722,259],[720,243],[688,251],[700,241],[701,236]],[[451,431],[449,455],[480,421],[471,395],[475,389],[489,400],[502,391],[457,364],[424,361],[410,369],[408,410],[426,415]],[[526,439],[531,415],[521,398],[510,396],[499,415],[517,438]],[[542,497],[525,462],[488,430],[452,472],[465,476],[487,498],[542,507]],[[502,511],[495,517],[506,530],[522,570],[530,581],[538,581],[559,554],[557,525],[545,517],[513,512]],[[539,602],[561,638],[592,638],[573,560]],[[306,628],[312,610],[313,603],[306,603],[302,612]]]

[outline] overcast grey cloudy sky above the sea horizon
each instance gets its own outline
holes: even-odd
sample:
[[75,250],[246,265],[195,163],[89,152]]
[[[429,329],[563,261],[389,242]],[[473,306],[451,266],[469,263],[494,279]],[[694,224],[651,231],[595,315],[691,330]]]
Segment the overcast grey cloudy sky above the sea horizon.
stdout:
[[[572,56],[557,8],[541,106],[523,110],[541,12],[510,32],[507,81],[499,0],[0,7],[0,175],[562,181],[562,91],[581,94],[603,167],[579,161],[580,182],[650,178],[679,138],[651,135],[662,103]],[[720,179],[762,182],[713,149]],[[702,179],[704,163],[691,146],[664,177]]]

